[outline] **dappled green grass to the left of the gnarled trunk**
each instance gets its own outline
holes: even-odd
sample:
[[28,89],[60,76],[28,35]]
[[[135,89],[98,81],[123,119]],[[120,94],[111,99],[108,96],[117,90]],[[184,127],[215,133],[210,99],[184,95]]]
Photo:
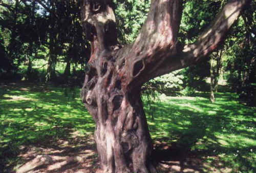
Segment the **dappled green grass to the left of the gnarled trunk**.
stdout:
[[[53,147],[73,132],[90,135],[94,122],[80,98],[45,83],[0,83],[0,172],[19,162],[21,147]],[[79,89],[76,91],[79,96]]]

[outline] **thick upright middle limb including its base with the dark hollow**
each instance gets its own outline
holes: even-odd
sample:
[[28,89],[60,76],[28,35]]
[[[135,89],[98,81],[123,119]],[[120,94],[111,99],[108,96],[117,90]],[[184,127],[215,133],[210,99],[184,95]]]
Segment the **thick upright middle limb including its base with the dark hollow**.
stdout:
[[182,15],[181,0],[152,0],[147,19],[133,44],[120,50],[118,68],[129,85],[143,84],[156,77],[168,53],[175,54]]

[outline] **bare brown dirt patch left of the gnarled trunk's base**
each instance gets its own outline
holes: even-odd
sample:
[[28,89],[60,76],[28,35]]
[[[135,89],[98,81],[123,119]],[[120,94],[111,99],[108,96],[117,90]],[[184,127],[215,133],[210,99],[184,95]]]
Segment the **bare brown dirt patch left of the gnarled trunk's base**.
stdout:
[[21,147],[19,155],[23,164],[16,173],[96,172],[99,160],[92,135],[72,133],[68,140],[59,140],[54,145]]

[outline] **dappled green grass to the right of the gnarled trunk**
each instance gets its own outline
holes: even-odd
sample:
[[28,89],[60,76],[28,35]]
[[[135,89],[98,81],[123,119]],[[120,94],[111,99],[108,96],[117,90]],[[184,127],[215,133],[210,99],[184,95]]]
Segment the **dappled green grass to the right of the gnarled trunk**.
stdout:
[[[216,93],[215,97],[215,103],[209,102],[209,93],[164,98],[164,102],[156,105],[154,120],[148,117],[152,138],[162,139],[170,146],[175,144],[176,149],[188,150],[205,162],[211,163],[214,156],[213,160],[227,166],[229,171],[253,172],[255,107],[238,104],[233,93]],[[200,171],[207,172],[205,166]]]

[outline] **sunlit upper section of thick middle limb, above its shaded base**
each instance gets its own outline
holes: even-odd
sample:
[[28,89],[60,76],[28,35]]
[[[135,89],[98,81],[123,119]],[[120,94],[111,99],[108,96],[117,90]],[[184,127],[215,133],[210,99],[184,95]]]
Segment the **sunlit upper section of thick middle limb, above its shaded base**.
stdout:
[[138,37],[135,54],[154,54],[158,49],[172,48],[178,37],[182,15],[181,0],[154,0]]

